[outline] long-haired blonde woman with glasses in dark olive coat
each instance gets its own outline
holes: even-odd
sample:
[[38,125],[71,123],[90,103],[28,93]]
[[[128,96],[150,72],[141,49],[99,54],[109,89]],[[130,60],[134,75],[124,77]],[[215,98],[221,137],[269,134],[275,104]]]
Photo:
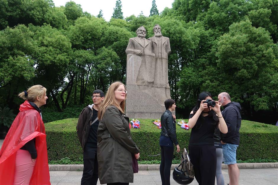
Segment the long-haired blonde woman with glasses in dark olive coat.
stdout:
[[133,183],[132,155],[139,149],[131,138],[125,115],[126,89],[122,82],[110,85],[98,111],[98,175],[101,184]]

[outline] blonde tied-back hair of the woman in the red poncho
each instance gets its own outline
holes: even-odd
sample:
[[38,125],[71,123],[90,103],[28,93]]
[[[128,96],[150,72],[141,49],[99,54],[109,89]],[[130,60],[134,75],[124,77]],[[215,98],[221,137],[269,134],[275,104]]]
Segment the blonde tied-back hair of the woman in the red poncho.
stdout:
[[19,93],[18,96],[23,100],[28,100],[30,102],[35,102],[37,97],[43,97],[46,94],[46,88],[42,85],[33,85],[32,87],[28,88],[26,93],[23,91]]

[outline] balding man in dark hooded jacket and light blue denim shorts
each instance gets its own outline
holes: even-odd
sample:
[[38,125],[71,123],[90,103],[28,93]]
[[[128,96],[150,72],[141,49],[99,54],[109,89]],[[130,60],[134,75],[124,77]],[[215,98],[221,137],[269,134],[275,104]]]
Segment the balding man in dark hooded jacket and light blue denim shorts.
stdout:
[[227,134],[222,134],[223,161],[228,165],[229,185],[238,184],[239,169],[237,167],[236,151],[239,145],[239,129],[241,125],[241,106],[237,102],[231,102],[228,93],[222,92],[218,95],[218,101],[224,107],[222,116],[227,124]]

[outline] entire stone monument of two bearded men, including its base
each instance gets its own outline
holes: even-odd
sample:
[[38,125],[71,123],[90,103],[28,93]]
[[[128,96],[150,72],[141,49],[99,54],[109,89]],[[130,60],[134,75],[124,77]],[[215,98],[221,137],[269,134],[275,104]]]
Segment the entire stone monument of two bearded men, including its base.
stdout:
[[146,39],[146,29],[137,29],[130,38],[127,54],[126,114],[130,118],[156,119],[165,111],[164,101],[171,98],[168,83],[169,38],[161,35],[159,25],[154,36]]

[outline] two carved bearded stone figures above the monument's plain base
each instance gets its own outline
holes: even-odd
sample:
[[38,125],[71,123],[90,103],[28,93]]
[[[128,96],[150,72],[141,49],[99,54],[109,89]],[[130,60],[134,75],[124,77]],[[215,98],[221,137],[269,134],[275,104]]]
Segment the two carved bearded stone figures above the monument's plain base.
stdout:
[[[153,27],[154,36],[146,39],[146,29],[137,29],[137,37],[130,38],[127,48],[127,85],[148,85],[169,88],[168,55],[171,53],[168,37],[161,34],[161,27]],[[129,73],[129,74],[128,74]]]

